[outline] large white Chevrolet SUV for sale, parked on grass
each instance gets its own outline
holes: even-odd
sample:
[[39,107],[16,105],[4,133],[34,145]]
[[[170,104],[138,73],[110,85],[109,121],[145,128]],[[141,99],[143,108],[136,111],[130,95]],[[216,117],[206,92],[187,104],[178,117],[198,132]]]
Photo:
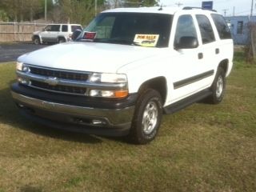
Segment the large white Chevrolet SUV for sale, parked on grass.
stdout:
[[74,36],[18,58],[11,94],[27,118],[145,144],[162,114],[222,101],[234,49],[213,10],[106,10]]

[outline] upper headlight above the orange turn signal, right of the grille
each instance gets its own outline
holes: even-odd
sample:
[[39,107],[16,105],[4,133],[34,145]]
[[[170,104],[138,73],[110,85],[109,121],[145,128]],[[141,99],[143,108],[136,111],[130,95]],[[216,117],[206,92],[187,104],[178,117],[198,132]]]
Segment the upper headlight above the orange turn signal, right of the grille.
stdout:
[[127,82],[126,74],[99,74],[90,75],[90,82]]

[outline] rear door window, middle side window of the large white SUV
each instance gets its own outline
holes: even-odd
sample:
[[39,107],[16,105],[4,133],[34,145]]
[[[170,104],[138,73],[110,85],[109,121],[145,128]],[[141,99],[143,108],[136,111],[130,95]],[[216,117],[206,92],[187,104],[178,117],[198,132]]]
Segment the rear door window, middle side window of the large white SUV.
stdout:
[[214,42],[215,41],[214,30],[210,25],[209,19],[202,14],[196,15],[196,18],[198,20],[199,29],[202,36],[202,44],[206,44],[208,42]]

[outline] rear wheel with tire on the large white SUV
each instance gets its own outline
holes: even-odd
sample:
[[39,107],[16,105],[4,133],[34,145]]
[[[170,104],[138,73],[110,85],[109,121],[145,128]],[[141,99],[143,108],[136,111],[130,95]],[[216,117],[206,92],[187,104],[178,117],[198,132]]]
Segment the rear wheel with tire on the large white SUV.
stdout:
[[214,82],[210,87],[210,90],[213,94],[208,98],[208,102],[212,104],[218,104],[222,102],[226,90],[226,75],[225,71],[219,67],[217,74],[214,78]]

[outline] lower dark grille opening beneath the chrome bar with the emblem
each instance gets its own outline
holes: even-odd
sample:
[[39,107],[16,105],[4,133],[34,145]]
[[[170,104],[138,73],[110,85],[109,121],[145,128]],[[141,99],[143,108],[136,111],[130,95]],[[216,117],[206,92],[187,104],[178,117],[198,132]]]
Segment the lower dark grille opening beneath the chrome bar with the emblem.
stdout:
[[46,82],[37,82],[37,81],[30,81],[31,86],[43,89],[43,90],[52,90],[56,92],[62,92],[67,94],[86,94],[85,87],[74,87],[74,86],[50,86]]

